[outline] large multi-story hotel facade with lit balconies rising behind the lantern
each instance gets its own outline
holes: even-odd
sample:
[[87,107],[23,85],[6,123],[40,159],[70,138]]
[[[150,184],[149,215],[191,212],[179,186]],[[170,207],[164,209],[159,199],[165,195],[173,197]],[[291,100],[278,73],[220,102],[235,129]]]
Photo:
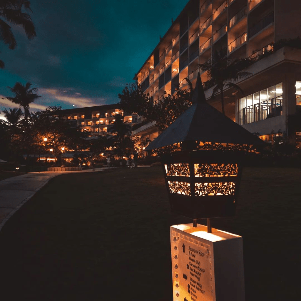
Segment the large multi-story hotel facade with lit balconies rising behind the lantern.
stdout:
[[[256,62],[246,71],[247,79],[236,82],[244,94],[224,92],[228,117],[250,132],[269,140],[272,133],[296,137],[288,116],[301,109],[301,49],[283,47],[281,39],[301,37],[301,1],[294,0],[191,0],[160,39],[135,78],[146,93],[158,99],[195,86],[209,78],[199,65],[219,51],[229,59],[251,57]],[[263,54],[269,54],[266,57]],[[221,110],[219,95],[210,99],[213,87],[205,91],[207,101]],[[133,135],[155,138],[155,123],[133,131]]]

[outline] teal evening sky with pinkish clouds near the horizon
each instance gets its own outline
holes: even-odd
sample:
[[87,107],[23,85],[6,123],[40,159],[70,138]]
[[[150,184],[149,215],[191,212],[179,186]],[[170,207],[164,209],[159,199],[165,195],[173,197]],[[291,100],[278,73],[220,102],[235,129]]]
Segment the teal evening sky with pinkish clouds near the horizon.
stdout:
[[[151,51],[188,1],[31,0],[37,36],[29,41],[11,25],[18,45],[0,42],[0,97],[7,86],[31,82],[42,97],[32,111],[49,105],[63,109],[119,101]],[[26,11],[27,12],[27,11]],[[16,105],[0,99],[0,110]],[[0,115],[0,118],[3,118]]]

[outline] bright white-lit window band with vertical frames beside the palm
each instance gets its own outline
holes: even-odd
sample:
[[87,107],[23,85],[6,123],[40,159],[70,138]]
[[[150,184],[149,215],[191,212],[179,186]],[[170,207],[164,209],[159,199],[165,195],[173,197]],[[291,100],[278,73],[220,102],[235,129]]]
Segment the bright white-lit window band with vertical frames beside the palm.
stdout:
[[282,115],[282,102],[282,82],[240,98],[240,124]]

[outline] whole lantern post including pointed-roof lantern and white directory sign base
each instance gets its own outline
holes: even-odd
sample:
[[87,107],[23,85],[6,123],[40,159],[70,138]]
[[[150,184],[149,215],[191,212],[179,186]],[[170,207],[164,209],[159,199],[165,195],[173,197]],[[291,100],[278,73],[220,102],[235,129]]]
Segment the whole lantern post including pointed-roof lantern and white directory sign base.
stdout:
[[191,107],[145,149],[160,153],[172,211],[192,219],[170,227],[174,301],[245,299],[242,237],[210,219],[235,215],[242,157],[257,145],[265,143],[206,103],[198,74]]

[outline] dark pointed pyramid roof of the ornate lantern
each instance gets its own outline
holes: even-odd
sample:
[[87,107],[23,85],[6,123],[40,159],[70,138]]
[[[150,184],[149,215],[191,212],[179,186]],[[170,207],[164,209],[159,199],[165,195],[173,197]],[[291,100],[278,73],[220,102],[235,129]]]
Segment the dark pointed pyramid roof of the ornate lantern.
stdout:
[[265,145],[265,142],[206,102],[200,73],[192,105],[165,129],[145,150],[184,141]]

